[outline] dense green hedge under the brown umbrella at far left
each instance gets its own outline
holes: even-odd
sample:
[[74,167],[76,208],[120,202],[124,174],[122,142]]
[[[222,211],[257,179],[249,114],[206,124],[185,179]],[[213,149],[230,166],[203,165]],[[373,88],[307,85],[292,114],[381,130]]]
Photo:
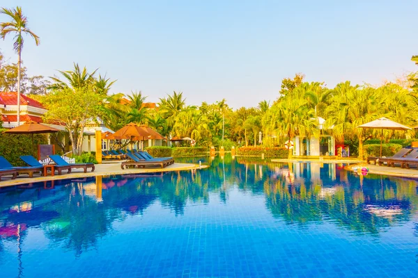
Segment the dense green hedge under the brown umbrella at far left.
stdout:
[[4,156],[13,166],[27,166],[19,157],[31,155],[37,158],[38,145],[45,144],[45,134],[34,134],[32,143],[32,136],[29,134],[0,133],[0,156]]

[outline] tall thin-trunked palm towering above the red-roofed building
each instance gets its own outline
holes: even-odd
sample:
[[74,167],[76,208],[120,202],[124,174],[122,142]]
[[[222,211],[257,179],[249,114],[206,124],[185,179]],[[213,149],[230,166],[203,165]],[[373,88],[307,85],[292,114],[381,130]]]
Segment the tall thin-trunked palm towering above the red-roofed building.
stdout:
[[28,19],[22,14],[22,8],[19,6],[13,10],[1,8],[0,13],[8,15],[11,19],[10,22],[0,24],[0,38],[4,40],[6,35],[15,35],[13,49],[17,52],[17,125],[20,125],[20,67],[22,65],[23,35],[30,35],[37,46],[40,44],[40,39],[28,28]]

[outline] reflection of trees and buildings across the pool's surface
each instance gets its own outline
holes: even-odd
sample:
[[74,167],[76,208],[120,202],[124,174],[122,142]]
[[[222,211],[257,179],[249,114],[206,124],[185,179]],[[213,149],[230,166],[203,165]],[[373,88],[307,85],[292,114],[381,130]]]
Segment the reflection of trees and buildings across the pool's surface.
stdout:
[[[0,222],[42,229],[53,243],[80,256],[95,248],[113,223],[147,213],[150,206],[187,216],[185,207],[216,202],[229,195],[263,196],[265,208],[285,224],[306,227],[329,222],[353,234],[380,231],[417,218],[417,181],[369,175],[360,178],[342,165],[269,163],[245,158],[194,158],[206,170],[56,181],[52,189],[6,188],[0,191]],[[235,192],[238,189],[238,193]],[[17,218],[10,208],[31,201],[36,222]],[[53,212],[53,213],[51,213]],[[88,229],[86,229],[88,227]],[[413,231],[418,234],[418,224]],[[25,231],[26,233],[26,231]],[[1,240],[5,239],[1,236]],[[22,238],[19,237],[19,243]],[[2,244],[0,243],[0,246]],[[0,250],[1,253],[1,250]]]

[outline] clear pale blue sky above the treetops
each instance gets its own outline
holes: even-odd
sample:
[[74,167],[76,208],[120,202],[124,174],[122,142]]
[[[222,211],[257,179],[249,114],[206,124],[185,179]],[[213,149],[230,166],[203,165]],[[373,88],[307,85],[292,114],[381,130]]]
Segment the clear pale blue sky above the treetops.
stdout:
[[[24,44],[30,76],[79,63],[116,79],[112,92],[141,90],[151,102],[175,90],[191,105],[251,107],[277,99],[281,80],[299,72],[333,88],[418,70],[410,60],[418,55],[416,0],[0,3],[16,5],[41,40]],[[10,62],[12,44],[0,41]]]

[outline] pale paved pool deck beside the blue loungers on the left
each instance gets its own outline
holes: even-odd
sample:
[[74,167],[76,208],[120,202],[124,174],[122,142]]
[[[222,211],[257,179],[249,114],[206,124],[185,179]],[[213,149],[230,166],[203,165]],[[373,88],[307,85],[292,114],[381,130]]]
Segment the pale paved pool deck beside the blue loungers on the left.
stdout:
[[[0,188],[4,186],[15,186],[17,184],[23,183],[33,183],[39,181],[52,181],[57,179],[77,179],[84,177],[95,177],[95,176],[107,176],[113,174],[138,174],[138,173],[151,173],[151,172],[172,172],[172,171],[181,171],[181,170],[194,170],[194,169],[203,169],[208,167],[208,165],[199,165],[192,163],[174,163],[167,167],[146,167],[146,168],[128,168],[121,169],[121,163],[105,163],[95,165],[94,172],[84,173],[82,169],[74,169],[71,171],[71,174],[55,174],[54,177],[39,177],[39,174],[36,174],[36,177],[29,179],[27,174],[22,174],[17,177],[17,179],[10,179],[10,177],[1,177]],[[66,171],[63,171],[64,173]]]

